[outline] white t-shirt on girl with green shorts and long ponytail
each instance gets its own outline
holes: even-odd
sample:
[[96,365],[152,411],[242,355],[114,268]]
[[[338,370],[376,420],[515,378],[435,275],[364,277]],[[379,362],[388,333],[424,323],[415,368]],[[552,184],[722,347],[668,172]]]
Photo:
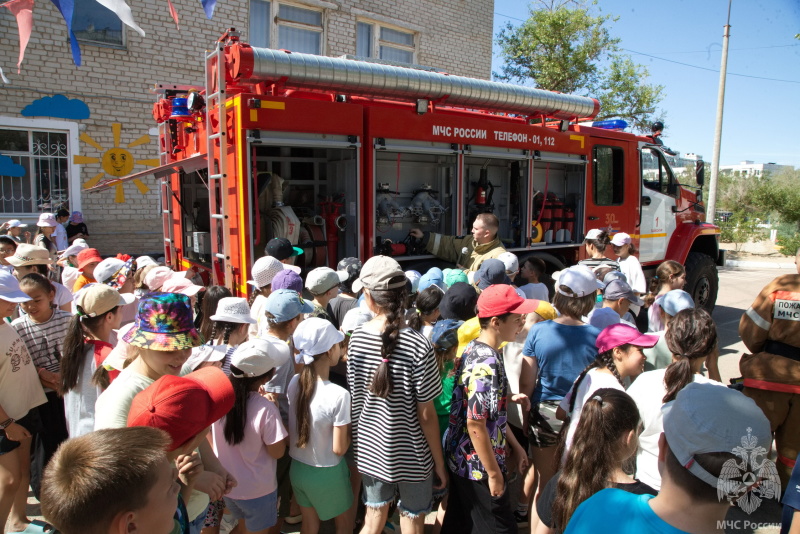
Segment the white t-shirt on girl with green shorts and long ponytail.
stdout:
[[295,460],[316,467],[333,467],[342,460],[333,452],[333,427],[350,424],[350,393],[329,380],[317,380],[314,396],[309,403],[308,443],[297,447],[297,394],[300,375],[289,383],[289,454]]

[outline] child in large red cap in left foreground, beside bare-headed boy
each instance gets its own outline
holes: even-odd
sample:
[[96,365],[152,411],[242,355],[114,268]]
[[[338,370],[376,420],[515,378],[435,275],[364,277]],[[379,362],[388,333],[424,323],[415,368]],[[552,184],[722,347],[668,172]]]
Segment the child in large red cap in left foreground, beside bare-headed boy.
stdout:
[[[233,387],[216,367],[205,367],[184,377],[162,376],[131,403],[129,427],[148,426],[169,434],[167,458],[175,462],[182,486],[175,518],[181,533],[199,534],[206,518],[208,499],[194,491],[203,472],[195,449],[206,441],[211,424],[223,417],[233,403]],[[226,489],[232,487],[231,481]],[[200,514],[189,513],[193,500],[205,502]]]

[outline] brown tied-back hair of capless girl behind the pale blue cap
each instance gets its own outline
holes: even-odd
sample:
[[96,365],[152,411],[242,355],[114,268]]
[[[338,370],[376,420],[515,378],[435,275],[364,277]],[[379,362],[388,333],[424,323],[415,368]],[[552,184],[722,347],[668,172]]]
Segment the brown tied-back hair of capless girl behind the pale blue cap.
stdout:
[[686,309],[675,314],[664,337],[673,358],[676,358],[667,366],[664,375],[667,394],[663,402],[670,402],[692,382],[693,360],[705,359],[716,349],[717,327],[704,309]]

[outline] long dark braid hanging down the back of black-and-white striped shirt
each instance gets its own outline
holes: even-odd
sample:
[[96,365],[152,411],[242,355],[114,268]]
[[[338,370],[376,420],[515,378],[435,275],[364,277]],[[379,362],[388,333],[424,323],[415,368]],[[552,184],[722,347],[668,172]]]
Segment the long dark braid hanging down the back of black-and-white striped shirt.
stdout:
[[[400,278],[399,275],[396,278]],[[389,285],[394,278],[389,281]],[[372,376],[369,392],[376,397],[386,398],[392,394],[392,373],[389,368],[389,357],[397,347],[400,337],[400,328],[403,326],[403,303],[407,297],[406,286],[397,289],[369,291],[369,296],[377,308],[386,317],[386,328],[381,333],[381,363]]]

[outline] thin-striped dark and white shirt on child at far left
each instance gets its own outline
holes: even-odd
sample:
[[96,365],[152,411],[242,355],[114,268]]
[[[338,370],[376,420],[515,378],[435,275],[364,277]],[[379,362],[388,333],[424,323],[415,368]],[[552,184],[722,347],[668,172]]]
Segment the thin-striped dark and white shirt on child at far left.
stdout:
[[28,347],[37,369],[43,367],[52,373],[61,370],[61,350],[70,319],[72,314],[54,309],[53,316],[43,323],[33,322],[28,315],[11,323]]

